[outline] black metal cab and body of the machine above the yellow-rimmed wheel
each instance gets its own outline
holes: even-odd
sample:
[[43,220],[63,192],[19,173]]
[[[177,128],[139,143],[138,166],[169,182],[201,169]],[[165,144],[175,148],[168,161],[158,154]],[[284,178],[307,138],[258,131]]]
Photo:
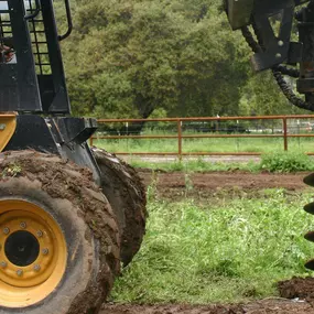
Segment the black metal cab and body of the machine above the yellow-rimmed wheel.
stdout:
[[[0,1],[0,112],[17,112],[17,129],[3,149],[34,149],[99,169],[87,140],[96,131],[95,119],[71,117],[53,0]],[[1,115],[0,115],[1,116]]]

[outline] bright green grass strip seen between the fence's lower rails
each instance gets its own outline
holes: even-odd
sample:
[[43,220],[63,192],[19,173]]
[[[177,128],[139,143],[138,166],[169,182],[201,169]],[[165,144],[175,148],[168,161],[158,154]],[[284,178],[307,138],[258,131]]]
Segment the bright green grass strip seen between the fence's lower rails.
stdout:
[[[94,144],[109,152],[177,152],[176,139],[94,140]],[[314,139],[289,139],[290,152],[314,152]],[[280,152],[283,139],[184,139],[183,152]]]

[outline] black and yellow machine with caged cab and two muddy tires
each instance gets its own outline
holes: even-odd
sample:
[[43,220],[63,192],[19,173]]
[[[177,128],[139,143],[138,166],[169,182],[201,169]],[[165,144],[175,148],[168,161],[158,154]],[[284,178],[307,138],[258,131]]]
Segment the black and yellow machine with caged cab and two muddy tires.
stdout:
[[58,34],[53,0],[0,1],[1,314],[98,313],[144,234],[139,176],[71,116],[64,6]]

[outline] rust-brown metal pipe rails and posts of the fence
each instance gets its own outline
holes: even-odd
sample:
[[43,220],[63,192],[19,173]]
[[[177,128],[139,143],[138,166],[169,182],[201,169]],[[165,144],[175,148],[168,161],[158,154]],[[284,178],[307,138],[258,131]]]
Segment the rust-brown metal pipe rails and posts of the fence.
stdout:
[[[307,133],[300,133],[300,130],[302,130],[302,123],[300,121],[304,120],[311,120],[314,119],[314,115],[295,115],[295,116],[256,116],[256,117],[202,117],[202,118],[165,118],[165,119],[99,119],[98,123],[100,126],[108,126],[108,124],[115,124],[119,123],[124,126],[130,126],[133,123],[149,123],[149,122],[169,122],[169,123],[175,123],[175,133],[174,134],[165,134],[165,136],[147,136],[147,134],[104,134],[98,133],[90,138],[90,145],[95,144],[95,140],[117,140],[117,139],[176,139],[177,141],[177,149],[174,152],[115,152],[116,154],[133,154],[133,155],[177,155],[178,158],[183,155],[260,155],[260,152],[184,152],[183,151],[183,140],[184,139],[218,139],[218,138],[235,138],[235,139],[241,139],[241,138],[281,138],[283,141],[283,149],[284,151],[288,151],[289,149],[289,138],[314,138],[314,130],[312,130],[311,122],[306,122],[308,124],[308,128],[306,129]],[[206,134],[184,134],[183,123],[184,122],[216,122],[217,126],[221,121],[236,121],[237,124],[239,124],[239,121],[253,121],[253,120],[261,120],[261,121],[281,121],[280,129],[277,128],[279,133],[229,133],[225,134],[219,130],[219,128],[215,130],[208,131]],[[289,132],[289,122],[296,120],[297,123],[297,133],[291,133]],[[304,124],[304,123],[303,123]],[[300,127],[301,126],[301,127]],[[314,126],[314,120],[313,120]],[[128,128],[127,128],[128,129]],[[303,127],[304,129],[304,127]],[[312,133],[311,133],[312,132]],[[307,152],[308,155],[314,155],[314,152]]]

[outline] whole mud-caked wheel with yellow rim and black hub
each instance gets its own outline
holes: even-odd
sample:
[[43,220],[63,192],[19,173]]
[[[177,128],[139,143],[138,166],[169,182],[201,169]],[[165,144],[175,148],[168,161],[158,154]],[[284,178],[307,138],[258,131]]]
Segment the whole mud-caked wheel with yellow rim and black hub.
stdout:
[[1,314],[98,313],[119,272],[120,235],[88,170],[1,154],[0,232]]

